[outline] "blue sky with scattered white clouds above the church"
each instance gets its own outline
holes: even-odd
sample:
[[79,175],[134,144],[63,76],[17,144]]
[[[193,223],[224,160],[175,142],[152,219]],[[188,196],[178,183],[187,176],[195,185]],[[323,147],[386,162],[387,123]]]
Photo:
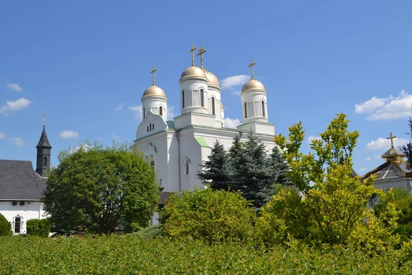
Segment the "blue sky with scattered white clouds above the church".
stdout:
[[253,59],[276,133],[300,120],[316,137],[346,113],[363,174],[382,163],[390,132],[407,139],[411,10],[411,1],[2,1],[0,158],[35,163],[45,111],[52,164],[86,138],[134,140],[152,65],[179,115],[193,43],[225,83],[228,125],[241,118]]

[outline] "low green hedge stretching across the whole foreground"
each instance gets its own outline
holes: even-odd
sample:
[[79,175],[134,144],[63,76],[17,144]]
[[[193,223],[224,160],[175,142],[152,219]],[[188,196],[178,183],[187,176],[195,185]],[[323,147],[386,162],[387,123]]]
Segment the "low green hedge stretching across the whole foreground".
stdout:
[[369,257],[327,246],[259,250],[238,243],[131,235],[0,237],[0,274],[412,274],[411,251]]

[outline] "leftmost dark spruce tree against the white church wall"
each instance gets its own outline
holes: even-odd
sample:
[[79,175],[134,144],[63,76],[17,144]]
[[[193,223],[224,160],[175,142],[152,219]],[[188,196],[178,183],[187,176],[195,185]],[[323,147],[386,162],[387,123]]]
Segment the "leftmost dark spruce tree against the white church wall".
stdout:
[[197,174],[207,186],[214,190],[229,190],[229,156],[225,147],[218,141],[211,148],[209,159],[203,164],[202,171]]

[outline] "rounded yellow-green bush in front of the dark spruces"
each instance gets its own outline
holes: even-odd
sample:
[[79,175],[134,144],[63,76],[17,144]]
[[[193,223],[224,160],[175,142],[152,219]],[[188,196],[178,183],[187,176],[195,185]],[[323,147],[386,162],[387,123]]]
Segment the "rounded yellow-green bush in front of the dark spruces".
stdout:
[[242,241],[253,234],[255,210],[240,192],[185,191],[168,199],[163,216],[171,236],[192,236],[207,243]]

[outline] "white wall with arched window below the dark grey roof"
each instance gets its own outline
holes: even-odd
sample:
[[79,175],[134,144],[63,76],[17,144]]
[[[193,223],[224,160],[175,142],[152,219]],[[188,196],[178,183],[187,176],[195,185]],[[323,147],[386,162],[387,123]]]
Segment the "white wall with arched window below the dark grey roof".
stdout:
[[[13,206],[12,201],[0,201],[0,213],[5,219],[12,223],[12,231],[14,232],[14,218],[21,217],[20,234],[26,234],[26,222],[30,219],[45,219],[45,211],[41,201],[23,201],[21,206],[19,200],[16,200],[17,205]],[[30,205],[29,205],[30,204]]]

